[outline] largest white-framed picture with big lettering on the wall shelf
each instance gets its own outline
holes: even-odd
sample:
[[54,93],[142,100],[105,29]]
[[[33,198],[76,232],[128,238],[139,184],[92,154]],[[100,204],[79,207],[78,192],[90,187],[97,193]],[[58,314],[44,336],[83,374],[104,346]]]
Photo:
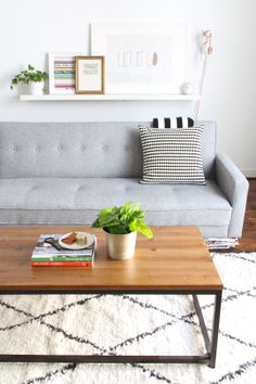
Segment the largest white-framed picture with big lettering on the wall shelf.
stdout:
[[185,25],[91,25],[91,54],[105,56],[106,93],[180,93]]

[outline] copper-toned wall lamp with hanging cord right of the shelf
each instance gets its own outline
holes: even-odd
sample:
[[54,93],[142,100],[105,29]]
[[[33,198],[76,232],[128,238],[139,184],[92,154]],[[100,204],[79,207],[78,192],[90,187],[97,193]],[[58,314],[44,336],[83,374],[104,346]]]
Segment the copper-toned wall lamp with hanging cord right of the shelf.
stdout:
[[208,59],[210,54],[213,53],[213,46],[212,46],[212,31],[209,29],[203,30],[202,33],[202,52],[201,52],[201,57],[203,60],[203,66],[202,66],[202,75],[200,79],[200,85],[199,85],[199,95],[200,100],[195,104],[195,111],[194,111],[194,119],[199,119],[199,114],[200,114],[200,106],[201,106],[201,100],[202,100],[202,94],[203,94],[203,86],[204,86],[204,79],[206,75],[206,68],[208,64]]

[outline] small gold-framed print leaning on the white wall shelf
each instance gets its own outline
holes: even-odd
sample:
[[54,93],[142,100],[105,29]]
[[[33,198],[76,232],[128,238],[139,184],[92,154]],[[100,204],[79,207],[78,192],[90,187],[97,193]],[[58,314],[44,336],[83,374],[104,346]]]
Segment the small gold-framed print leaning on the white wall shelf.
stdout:
[[76,93],[104,93],[104,56],[76,56]]

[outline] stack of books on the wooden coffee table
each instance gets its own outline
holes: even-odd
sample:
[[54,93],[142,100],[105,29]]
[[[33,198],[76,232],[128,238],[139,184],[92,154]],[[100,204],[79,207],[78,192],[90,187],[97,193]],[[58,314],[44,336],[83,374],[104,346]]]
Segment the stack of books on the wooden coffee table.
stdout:
[[[91,245],[81,249],[66,249],[60,246],[63,234],[41,234],[31,255],[33,267],[93,267],[97,238]],[[53,239],[53,245],[46,242]],[[59,248],[56,248],[55,246]]]

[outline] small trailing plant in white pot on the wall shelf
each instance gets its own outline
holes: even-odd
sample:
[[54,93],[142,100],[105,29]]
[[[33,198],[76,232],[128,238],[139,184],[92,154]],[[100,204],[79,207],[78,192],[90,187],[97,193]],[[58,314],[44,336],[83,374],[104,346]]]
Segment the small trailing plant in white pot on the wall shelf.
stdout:
[[18,84],[27,85],[30,94],[43,94],[44,81],[48,79],[46,72],[37,71],[28,64],[27,69],[22,71],[11,80],[11,89]]

